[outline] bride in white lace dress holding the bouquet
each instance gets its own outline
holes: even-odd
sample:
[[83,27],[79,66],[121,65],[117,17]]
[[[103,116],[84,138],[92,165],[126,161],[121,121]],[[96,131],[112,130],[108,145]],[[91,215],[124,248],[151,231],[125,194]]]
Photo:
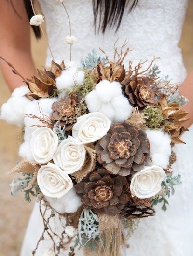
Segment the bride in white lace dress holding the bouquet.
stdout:
[[[45,16],[53,56],[57,61],[64,59],[68,62],[69,48],[64,43],[66,35],[69,34],[67,16],[59,0],[39,2]],[[177,187],[173,198],[169,199],[170,206],[166,212],[157,206],[155,217],[140,221],[138,229],[128,241],[129,248],[125,249],[125,255],[192,256],[193,72],[186,78],[181,50],[178,47],[188,0],[64,0],[64,3],[69,12],[73,35],[78,38],[73,45],[74,60],[80,61],[86,53],[99,46],[112,57],[116,39],[119,38],[120,44],[127,39],[128,46],[133,49],[128,57],[134,64],[140,60],[150,61],[154,56],[160,57],[156,64],[162,71],[161,76],[169,75],[174,83],[183,82],[181,93],[190,100],[186,107],[190,113],[190,131],[183,136],[187,145],[184,147],[180,144],[175,147],[178,162],[173,168],[176,174],[181,174],[182,184]],[[35,74],[30,53],[28,22],[28,17],[32,15],[30,0],[0,0],[0,55],[11,59],[25,77]],[[33,29],[39,37],[38,28]],[[46,65],[50,64],[51,59],[48,51]],[[11,90],[21,85],[20,78],[10,74],[6,65],[1,63],[1,68]],[[31,255],[41,232],[41,218],[38,206],[35,205],[21,256]],[[43,241],[36,255],[49,255],[45,251],[50,247],[49,240]]]

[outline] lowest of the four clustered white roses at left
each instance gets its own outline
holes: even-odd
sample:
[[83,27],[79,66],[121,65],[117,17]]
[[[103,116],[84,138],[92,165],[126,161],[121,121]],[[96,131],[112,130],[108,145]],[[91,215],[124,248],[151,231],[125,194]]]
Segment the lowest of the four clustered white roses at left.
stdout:
[[69,175],[52,163],[41,166],[37,182],[43,195],[51,198],[62,198],[73,187]]

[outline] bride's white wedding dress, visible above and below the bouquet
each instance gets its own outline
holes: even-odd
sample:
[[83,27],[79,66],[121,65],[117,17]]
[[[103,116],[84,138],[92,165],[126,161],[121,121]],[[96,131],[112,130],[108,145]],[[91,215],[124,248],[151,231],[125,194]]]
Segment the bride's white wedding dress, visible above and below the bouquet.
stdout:
[[[48,38],[55,60],[69,62],[69,45],[65,37],[69,35],[67,16],[60,3],[55,0],[39,0],[46,20]],[[132,2],[132,1],[131,1]],[[72,24],[72,34],[78,38],[73,45],[73,60],[81,58],[93,48],[101,47],[107,55],[113,57],[113,44],[119,38],[119,44],[128,40],[133,49],[128,58],[138,63],[160,57],[156,63],[162,71],[161,76],[169,75],[173,82],[182,82],[186,70],[178,47],[184,22],[187,0],[138,0],[136,8],[124,12],[122,24],[117,32],[108,30],[105,35],[94,33],[92,0],[64,1]],[[48,51],[46,64],[50,65]],[[128,64],[128,63],[125,63]],[[176,193],[169,199],[166,212],[156,207],[155,217],[140,221],[138,229],[128,241],[130,248],[126,256],[193,256],[193,126],[183,136],[186,145],[175,146],[178,162],[174,173],[181,174],[182,184],[176,187]],[[30,256],[41,236],[43,226],[38,206],[34,207],[21,256]],[[51,241],[41,242],[37,256],[43,256]],[[64,255],[64,254],[61,254]],[[83,255],[77,253],[76,255]]]

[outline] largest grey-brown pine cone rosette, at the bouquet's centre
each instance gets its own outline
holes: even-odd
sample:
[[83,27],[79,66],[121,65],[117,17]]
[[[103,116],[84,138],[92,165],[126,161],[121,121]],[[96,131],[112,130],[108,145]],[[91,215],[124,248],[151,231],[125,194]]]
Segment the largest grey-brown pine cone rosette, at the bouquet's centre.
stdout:
[[96,143],[97,160],[110,174],[127,176],[144,168],[150,153],[145,131],[127,121],[111,126],[106,136]]

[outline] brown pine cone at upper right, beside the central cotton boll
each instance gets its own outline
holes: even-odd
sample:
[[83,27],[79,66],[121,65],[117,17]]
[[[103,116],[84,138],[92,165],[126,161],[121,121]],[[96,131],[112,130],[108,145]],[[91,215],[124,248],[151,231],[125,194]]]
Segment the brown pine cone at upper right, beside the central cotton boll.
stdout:
[[146,107],[155,104],[155,94],[150,84],[148,77],[134,75],[124,80],[122,88],[132,105]]

